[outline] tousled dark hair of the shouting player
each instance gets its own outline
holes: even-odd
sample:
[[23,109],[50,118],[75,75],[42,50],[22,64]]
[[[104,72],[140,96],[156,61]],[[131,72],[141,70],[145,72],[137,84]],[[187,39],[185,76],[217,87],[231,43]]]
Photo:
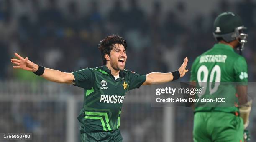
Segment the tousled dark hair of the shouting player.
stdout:
[[105,58],[105,54],[108,54],[110,56],[110,51],[113,50],[115,47],[115,44],[121,44],[127,49],[127,42],[123,37],[120,37],[118,35],[110,35],[108,37],[105,37],[103,40],[100,41],[100,46],[98,47],[102,56],[103,64],[107,64],[107,60]]

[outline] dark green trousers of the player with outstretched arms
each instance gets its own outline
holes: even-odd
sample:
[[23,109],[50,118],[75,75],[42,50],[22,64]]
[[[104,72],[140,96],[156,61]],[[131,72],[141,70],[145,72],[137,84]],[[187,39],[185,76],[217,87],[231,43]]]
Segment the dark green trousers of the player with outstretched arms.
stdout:
[[80,135],[81,142],[122,142],[123,138],[120,130],[107,132],[90,132]]

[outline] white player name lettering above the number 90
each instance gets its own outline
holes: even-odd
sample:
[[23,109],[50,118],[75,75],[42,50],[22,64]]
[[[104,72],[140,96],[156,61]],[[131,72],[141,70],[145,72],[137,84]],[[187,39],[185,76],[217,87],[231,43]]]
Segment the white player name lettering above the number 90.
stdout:
[[200,57],[199,63],[203,62],[222,62],[225,63],[227,55],[204,55]]

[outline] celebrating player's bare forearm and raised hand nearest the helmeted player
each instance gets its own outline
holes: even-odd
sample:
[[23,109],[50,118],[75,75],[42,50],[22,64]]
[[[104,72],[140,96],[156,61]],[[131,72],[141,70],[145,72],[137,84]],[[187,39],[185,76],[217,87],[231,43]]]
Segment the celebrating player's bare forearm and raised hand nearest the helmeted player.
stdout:
[[[188,59],[187,57],[184,59],[183,64],[179,67],[178,71],[180,77],[183,77],[188,70],[186,70]],[[146,81],[142,85],[154,85],[154,84],[161,84],[170,82],[173,80],[173,75],[171,72],[169,73],[159,73],[159,72],[152,72],[146,75]]]

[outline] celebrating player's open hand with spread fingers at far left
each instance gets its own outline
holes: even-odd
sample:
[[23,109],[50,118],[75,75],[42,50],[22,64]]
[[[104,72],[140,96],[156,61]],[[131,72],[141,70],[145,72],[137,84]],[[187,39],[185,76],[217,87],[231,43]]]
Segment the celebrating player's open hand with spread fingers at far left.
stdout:
[[15,66],[13,66],[13,68],[28,70],[28,71],[32,71],[32,72],[36,72],[36,70],[38,70],[38,65],[36,65],[33,62],[31,62],[30,60],[28,60],[28,57],[26,57],[24,59],[17,53],[14,53],[14,55],[16,57],[18,57],[18,59],[11,59],[11,62],[13,64],[15,64]]

